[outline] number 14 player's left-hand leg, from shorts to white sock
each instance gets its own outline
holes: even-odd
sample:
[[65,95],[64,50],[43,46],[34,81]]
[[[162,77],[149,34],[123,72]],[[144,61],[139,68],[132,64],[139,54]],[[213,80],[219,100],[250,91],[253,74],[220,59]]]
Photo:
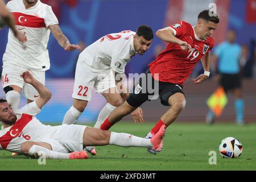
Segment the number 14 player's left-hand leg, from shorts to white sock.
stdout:
[[20,73],[22,73],[21,68],[15,65],[12,67],[3,67],[2,71],[2,86],[6,94],[6,100],[14,110],[18,109],[20,92],[24,85]]

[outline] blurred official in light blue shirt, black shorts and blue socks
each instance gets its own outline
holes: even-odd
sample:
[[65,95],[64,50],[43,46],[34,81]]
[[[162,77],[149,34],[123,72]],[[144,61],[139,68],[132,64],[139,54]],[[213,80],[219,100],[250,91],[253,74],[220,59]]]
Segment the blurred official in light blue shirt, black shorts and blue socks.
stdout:
[[[213,62],[216,63],[214,69],[216,70],[220,85],[224,88],[226,93],[232,91],[236,97],[234,102],[236,108],[236,122],[243,124],[244,103],[242,99],[240,74],[241,46],[236,43],[236,31],[228,31],[228,40],[216,47],[212,59]],[[209,124],[213,123],[214,118],[215,115],[213,111],[209,110],[206,122]]]

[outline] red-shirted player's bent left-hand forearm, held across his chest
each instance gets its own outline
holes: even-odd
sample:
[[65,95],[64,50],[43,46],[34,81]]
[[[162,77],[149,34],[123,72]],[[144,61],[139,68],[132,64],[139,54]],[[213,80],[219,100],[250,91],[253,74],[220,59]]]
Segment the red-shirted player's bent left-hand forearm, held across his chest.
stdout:
[[156,36],[158,36],[159,39],[165,42],[172,43],[172,44],[179,44],[183,50],[187,50],[187,49],[189,51],[191,50],[191,45],[188,44],[187,42],[184,42],[176,38],[174,30],[172,30],[172,28],[170,27],[165,27],[156,31]]

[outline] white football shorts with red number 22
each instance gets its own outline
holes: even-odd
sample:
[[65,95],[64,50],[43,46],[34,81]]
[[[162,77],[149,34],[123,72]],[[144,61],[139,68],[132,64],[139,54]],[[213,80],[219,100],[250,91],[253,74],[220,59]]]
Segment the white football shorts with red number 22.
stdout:
[[90,71],[81,61],[77,61],[72,97],[78,100],[90,101],[93,87],[98,93],[114,88],[115,78],[112,69],[109,69],[109,73],[96,73]]

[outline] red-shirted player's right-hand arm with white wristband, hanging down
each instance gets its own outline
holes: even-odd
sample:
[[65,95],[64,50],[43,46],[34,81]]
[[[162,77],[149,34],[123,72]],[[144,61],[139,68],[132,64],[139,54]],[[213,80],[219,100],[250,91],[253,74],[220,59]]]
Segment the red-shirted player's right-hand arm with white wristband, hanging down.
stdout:
[[202,57],[201,63],[204,68],[204,74],[199,75],[197,78],[192,78],[191,80],[194,84],[201,84],[210,76],[210,52]]

